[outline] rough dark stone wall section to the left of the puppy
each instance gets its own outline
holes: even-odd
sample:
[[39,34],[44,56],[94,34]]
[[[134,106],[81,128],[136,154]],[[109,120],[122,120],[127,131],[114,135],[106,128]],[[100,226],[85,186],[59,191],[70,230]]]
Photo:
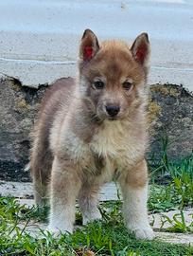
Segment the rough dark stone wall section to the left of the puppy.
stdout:
[[16,80],[0,82],[0,179],[27,181],[29,131],[45,86],[39,90]]

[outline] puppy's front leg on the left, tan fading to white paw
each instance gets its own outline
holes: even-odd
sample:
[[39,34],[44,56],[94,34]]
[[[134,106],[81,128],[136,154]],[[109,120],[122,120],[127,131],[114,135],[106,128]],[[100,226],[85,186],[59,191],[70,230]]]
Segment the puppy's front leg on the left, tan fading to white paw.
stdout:
[[51,175],[51,202],[48,230],[73,232],[75,203],[80,189],[77,168],[55,157]]

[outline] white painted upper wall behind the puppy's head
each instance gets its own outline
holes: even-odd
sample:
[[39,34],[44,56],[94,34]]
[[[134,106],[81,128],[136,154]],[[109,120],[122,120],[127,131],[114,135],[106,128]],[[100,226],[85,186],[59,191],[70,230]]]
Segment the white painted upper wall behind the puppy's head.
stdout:
[[128,42],[147,31],[149,83],[182,83],[193,91],[191,0],[0,0],[0,75],[29,86],[76,76],[87,27],[99,39]]

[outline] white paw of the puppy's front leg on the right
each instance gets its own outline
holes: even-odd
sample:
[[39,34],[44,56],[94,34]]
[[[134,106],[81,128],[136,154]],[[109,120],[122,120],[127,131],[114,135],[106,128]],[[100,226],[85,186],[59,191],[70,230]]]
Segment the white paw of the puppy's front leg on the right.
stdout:
[[149,226],[148,227],[135,226],[129,229],[132,233],[134,233],[137,239],[152,240],[155,237],[153,230]]

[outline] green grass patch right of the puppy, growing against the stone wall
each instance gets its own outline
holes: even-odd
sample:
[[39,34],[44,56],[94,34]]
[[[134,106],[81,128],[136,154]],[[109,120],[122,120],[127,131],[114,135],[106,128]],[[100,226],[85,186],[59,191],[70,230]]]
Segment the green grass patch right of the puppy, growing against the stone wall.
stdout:
[[150,183],[149,210],[193,207],[193,153],[176,162],[169,162],[165,155],[158,166],[151,169]]

